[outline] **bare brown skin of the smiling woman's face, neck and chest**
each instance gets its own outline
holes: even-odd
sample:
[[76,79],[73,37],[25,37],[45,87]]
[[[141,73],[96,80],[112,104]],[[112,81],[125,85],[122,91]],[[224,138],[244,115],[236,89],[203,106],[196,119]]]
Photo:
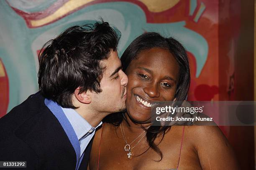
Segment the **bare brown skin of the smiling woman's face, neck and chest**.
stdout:
[[[146,69],[145,69],[146,68]],[[131,143],[140,135],[143,127],[150,125],[151,112],[136,100],[139,95],[148,102],[174,100],[177,88],[179,66],[173,55],[161,48],[152,48],[138,54],[128,67],[128,84],[126,117],[130,124],[123,121],[125,137]],[[131,118],[141,124],[135,124]],[[183,126],[172,126],[158,145],[163,153],[160,162],[159,154],[151,148],[147,150],[146,138],[133,148],[132,159],[124,151],[120,126],[105,123],[97,130],[90,155],[88,169],[97,170],[100,135],[100,170],[168,170],[177,168]],[[140,138],[138,138],[139,140]],[[138,140],[131,146],[133,147]],[[156,138],[159,143],[161,136]],[[146,153],[143,153],[145,152]],[[143,153],[142,155],[140,155]],[[225,136],[217,126],[186,126],[179,163],[181,170],[238,170],[234,153]]]

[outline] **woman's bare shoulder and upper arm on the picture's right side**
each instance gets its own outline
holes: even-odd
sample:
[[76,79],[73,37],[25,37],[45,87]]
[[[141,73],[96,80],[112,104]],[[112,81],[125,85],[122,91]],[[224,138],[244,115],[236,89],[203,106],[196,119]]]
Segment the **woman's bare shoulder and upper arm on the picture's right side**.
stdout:
[[239,169],[233,149],[218,126],[189,126],[187,135],[203,169]]

